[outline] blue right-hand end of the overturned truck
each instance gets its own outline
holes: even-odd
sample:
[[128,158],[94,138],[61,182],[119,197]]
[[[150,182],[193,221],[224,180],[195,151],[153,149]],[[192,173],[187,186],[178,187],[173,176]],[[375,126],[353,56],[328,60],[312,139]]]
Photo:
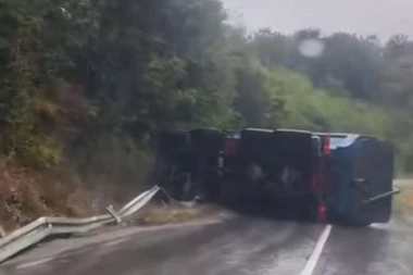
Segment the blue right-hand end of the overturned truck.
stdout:
[[325,173],[331,218],[349,224],[387,223],[391,216],[393,148],[375,137],[315,134],[329,137]]

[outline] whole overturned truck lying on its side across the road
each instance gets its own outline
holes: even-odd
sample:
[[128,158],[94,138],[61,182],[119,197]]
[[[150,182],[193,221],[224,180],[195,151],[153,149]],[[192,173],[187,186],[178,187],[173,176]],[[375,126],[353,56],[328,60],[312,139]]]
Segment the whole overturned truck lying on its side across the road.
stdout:
[[365,226],[391,216],[393,149],[374,137],[295,129],[160,133],[154,176],[172,197]]

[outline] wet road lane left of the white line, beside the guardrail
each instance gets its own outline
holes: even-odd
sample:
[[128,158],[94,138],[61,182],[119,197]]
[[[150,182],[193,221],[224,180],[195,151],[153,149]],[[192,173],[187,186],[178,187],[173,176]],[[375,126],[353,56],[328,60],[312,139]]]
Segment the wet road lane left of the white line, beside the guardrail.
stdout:
[[149,232],[111,247],[57,258],[27,274],[298,274],[323,228],[238,218],[201,228]]

